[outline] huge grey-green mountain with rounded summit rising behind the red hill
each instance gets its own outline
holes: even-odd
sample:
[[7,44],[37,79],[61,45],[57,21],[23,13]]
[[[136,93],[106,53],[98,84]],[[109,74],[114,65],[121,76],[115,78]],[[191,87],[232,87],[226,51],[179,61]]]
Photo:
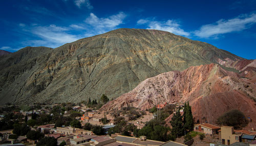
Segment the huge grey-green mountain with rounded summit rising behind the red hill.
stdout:
[[102,94],[112,99],[160,73],[210,63],[236,71],[243,60],[172,33],[121,28],[55,49],[26,47],[1,59],[0,103],[78,102]]

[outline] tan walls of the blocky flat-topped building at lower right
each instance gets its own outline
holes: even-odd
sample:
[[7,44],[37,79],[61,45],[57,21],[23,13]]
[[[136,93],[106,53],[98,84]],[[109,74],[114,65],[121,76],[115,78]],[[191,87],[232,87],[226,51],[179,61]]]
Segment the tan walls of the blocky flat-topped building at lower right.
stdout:
[[[221,142],[224,139],[226,145],[228,145],[228,140],[230,141],[230,144],[234,142],[239,142],[239,136],[238,134],[233,134],[234,129],[230,126],[222,126],[221,127]],[[237,138],[237,139],[236,139]]]

